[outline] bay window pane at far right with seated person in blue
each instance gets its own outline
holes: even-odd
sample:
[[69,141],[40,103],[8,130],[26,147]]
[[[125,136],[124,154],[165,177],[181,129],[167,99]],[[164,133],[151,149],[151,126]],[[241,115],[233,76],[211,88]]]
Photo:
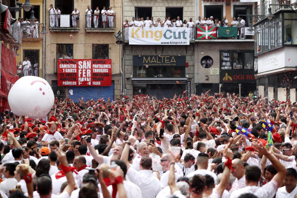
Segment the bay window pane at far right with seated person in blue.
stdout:
[[[296,15],[296,14],[295,14]],[[285,20],[284,21],[284,44],[296,45],[297,44],[297,20]]]

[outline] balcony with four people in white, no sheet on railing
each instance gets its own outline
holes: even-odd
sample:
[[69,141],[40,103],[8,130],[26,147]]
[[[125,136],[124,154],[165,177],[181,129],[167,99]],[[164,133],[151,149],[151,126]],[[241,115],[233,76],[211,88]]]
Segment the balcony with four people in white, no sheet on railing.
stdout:
[[86,15],[87,32],[115,32],[116,15]]

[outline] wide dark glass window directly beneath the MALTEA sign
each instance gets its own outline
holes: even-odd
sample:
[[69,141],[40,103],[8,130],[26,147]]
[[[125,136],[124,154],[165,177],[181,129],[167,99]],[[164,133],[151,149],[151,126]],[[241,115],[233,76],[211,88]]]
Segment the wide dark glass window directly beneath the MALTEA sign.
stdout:
[[133,77],[161,78],[161,77],[186,77],[186,67],[181,66],[134,66]]

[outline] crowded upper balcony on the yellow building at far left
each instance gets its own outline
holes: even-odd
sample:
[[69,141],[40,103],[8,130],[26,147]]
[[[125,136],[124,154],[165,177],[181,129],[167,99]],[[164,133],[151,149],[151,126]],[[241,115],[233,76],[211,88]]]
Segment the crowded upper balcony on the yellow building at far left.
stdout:
[[43,23],[22,23],[20,24],[20,28],[22,30],[22,39],[23,40],[40,40],[42,39],[42,34],[40,33],[42,30]]

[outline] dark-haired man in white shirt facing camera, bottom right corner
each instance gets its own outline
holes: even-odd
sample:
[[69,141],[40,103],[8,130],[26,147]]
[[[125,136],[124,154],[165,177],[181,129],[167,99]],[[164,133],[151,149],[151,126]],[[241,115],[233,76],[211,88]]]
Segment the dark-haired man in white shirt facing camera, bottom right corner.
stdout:
[[297,172],[293,168],[287,169],[283,183],[285,186],[277,190],[275,198],[294,197],[297,194]]

